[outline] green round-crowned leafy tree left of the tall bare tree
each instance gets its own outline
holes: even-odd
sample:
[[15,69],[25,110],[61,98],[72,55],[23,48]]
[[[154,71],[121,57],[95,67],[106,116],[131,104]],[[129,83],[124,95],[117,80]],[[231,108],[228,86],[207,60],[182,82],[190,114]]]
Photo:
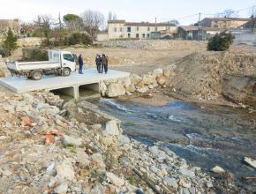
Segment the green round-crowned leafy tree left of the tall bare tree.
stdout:
[[63,17],[64,23],[70,31],[78,32],[83,28],[83,20],[76,14],[66,14]]

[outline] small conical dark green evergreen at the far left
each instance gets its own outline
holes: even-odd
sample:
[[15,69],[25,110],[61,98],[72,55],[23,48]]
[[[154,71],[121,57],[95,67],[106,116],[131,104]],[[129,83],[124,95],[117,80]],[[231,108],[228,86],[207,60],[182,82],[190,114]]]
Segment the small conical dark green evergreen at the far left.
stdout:
[[11,56],[11,52],[17,48],[17,36],[15,36],[9,28],[7,36],[3,42],[5,56]]

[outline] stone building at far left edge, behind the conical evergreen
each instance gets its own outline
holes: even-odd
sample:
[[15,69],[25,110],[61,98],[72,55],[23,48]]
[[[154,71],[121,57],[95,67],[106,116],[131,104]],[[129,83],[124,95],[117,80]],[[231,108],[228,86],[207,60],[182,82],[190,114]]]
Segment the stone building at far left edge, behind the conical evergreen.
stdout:
[[11,28],[14,34],[19,35],[19,19],[0,19],[0,38]]

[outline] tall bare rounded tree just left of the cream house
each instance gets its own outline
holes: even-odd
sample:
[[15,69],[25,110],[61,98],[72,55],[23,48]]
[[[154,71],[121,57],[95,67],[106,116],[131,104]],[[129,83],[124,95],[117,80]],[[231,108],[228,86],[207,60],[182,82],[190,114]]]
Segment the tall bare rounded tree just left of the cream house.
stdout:
[[87,33],[92,39],[95,39],[96,34],[100,31],[102,26],[104,26],[104,15],[99,11],[88,10],[81,14],[81,18],[83,19]]

